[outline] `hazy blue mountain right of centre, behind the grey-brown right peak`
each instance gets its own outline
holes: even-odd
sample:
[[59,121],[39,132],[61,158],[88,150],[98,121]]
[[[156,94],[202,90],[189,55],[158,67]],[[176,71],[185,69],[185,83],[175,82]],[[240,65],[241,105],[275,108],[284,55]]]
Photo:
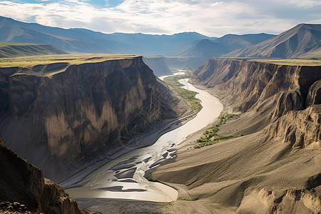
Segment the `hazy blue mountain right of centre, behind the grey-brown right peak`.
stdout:
[[275,35],[271,34],[228,34],[215,40],[203,39],[200,41],[193,41],[190,44],[180,46],[169,55],[198,56],[203,58],[204,61],[207,61],[208,58],[222,56],[223,54],[228,54],[230,51],[258,44],[261,41],[265,41],[274,36]]

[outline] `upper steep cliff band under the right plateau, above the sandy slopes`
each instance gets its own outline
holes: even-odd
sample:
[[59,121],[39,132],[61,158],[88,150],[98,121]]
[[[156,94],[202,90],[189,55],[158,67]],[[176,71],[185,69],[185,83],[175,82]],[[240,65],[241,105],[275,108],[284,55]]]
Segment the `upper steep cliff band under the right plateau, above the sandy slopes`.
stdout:
[[[275,116],[310,105],[318,93],[310,86],[321,78],[320,66],[285,66],[246,59],[211,58],[191,81],[213,88],[234,111],[248,111],[277,96]],[[311,95],[310,95],[311,94]],[[312,98],[315,100],[315,98]]]

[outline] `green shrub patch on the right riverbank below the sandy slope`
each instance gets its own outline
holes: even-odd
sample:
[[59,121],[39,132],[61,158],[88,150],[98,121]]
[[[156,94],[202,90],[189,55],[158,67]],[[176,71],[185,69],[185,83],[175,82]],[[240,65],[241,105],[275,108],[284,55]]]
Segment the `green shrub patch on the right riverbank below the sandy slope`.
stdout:
[[210,146],[220,141],[226,141],[228,139],[238,138],[240,136],[243,136],[243,134],[240,134],[238,136],[218,136],[216,134],[219,131],[219,127],[225,124],[226,121],[239,118],[239,117],[240,115],[238,114],[229,114],[229,113],[223,116],[220,116],[220,121],[215,125],[213,125],[212,127],[206,129],[206,131],[203,133],[203,137],[200,137],[200,139],[197,140],[197,142],[200,144],[194,146],[194,148],[202,148],[203,146]]

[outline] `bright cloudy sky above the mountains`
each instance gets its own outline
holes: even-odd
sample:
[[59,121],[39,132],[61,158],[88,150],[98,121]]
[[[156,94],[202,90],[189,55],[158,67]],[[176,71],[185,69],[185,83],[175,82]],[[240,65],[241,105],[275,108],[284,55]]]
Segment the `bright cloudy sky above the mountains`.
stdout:
[[321,0],[0,0],[0,16],[104,33],[206,36],[280,32],[321,24]]

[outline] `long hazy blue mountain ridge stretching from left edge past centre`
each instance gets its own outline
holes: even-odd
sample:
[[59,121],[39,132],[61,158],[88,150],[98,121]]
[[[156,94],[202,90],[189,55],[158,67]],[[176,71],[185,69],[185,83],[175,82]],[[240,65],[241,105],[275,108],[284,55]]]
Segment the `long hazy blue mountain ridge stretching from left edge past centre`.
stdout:
[[70,52],[162,55],[195,40],[210,39],[195,32],[168,35],[103,34],[87,29],[61,29],[0,16],[0,41],[51,44]]

